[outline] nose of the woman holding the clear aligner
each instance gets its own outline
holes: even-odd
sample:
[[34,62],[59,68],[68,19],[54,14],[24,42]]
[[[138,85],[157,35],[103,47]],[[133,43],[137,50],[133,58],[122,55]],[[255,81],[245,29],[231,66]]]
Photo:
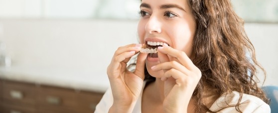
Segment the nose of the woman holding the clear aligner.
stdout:
[[152,34],[152,33],[161,33],[161,22],[159,21],[159,19],[155,16],[151,16],[148,19],[148,22],[145,25],[145,30],[146,32]]

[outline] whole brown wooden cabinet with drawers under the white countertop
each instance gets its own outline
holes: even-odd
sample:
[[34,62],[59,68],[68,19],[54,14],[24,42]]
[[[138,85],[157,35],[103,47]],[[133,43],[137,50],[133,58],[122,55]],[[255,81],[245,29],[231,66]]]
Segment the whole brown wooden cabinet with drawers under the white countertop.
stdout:
[[0,81],[0,113],[93,113],[103,93]]

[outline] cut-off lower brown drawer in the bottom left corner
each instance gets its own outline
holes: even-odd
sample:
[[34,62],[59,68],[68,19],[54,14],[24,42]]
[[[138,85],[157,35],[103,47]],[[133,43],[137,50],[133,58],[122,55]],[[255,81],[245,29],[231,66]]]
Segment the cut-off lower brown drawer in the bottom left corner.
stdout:
[[0,113],[37,113],[32,106],[21,105],[14,106],[9,104],[0,104]]

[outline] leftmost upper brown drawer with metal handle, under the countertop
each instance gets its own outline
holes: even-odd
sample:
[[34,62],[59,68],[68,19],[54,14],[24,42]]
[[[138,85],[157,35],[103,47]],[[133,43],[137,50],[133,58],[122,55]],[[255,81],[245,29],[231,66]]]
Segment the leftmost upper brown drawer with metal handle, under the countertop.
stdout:
[[3,102],[35,105],[35,85],[11,81],[2,81],[2,85]]

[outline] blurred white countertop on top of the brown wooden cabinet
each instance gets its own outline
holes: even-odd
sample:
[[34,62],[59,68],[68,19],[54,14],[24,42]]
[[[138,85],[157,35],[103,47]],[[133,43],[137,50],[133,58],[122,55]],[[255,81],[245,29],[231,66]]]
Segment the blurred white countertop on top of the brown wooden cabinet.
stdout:
[[98,75],[89,69],[0,67],[0,78],[100,93],[104,93],[110,86],[107,75]]

